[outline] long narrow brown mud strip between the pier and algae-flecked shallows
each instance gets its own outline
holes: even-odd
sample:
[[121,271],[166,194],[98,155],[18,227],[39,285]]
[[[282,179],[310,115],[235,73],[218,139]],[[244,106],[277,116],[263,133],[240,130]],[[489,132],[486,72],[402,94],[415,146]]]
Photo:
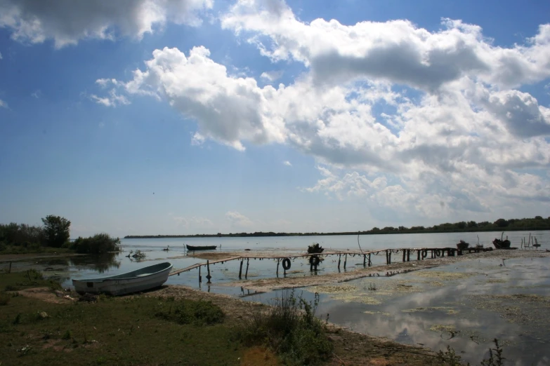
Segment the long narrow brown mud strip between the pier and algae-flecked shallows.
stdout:
[[[398,273],[408,271],[418,271],[420,269],[429,269],[436,266],[443,266],[457,262],[464,262],[475,259],[513,259],[513,258],[537,258],[550,257],[550,252],[539,250],[492,250],[491,252],[471,253],[457,257],[440,257],[436,259],[424,259],[421,261],[398,262],[390,265],[372,266],[367,268],[353,269],[351,271],[341,271],[340,273],[328,273],[318,276],[304,276],[283,278],[280,271],[279,278],[263,278],[259,280],[239,280],[232,283],[223,283],[223,286],[242,286],[249,290],[257,292],[268,292],[292,287],[308,287],[313,285],[323,285],[331,282],[346,282],[365,278],[369,276],[393,276]],[[334,264],[333,264],[334,265]]]

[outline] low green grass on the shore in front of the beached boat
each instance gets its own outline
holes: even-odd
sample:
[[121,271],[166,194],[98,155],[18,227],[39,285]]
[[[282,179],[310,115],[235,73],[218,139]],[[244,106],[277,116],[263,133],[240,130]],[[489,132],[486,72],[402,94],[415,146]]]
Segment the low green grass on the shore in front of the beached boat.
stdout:
[[[27,273],[0,274],[0,290],[16,283],[29,285]],[[11,296],[1,306],[2,366],[239,365],[242,358],[233,324],[207,301],[145,296],[59,301]]]

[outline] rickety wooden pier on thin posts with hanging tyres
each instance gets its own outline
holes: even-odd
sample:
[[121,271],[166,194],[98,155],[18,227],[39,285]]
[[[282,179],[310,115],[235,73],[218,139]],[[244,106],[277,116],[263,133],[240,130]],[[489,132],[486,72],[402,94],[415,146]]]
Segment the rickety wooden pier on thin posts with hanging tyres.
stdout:
[[[351,257],[355,256],[363,256],[363,266],[372,266],[372,255],[380,255],[381,253],[384,253],[386,255],[386,264],[392,263],[392,255],[396,255],[396,259],[401,259],[402,262],[410,262],[411,260],[411,254],[414,259],[414,254],[416,252],[416,259],[417,261],[428,259],[428,256],[432,259],[439,258],[439,257],[454,257],[455,255],[464,255],[466,252],[486,252],[492,250],[492,248],[466,248],[466,249],[457,249],[457,248],[388,248],[388,249],[379,249],[379,250],[369,250],[369,251],[358,251],[358,250],[345,250],[345,251],[338,251],[338,252],[324,252],[324,253],[313,253],[313,254],[299,254],[299,255],[260,255],[260,256],[254,256],[254,255],[239,255],[235,257],[228,257],[224,259],[218,259],[215,261],[207,261],[203,263],[197,263],[193,264],[192,266],[185,267],[184,269],[176,269],[176,271],[173,271],[169,274],[169,276],[174,275],[180,275],[180,273],[191,271],[192,269],[199,269],[199,283],[202,283],[202,276],[201,276],[201,267],[206,266],[208,275],[208,283],[210,283],[211,275],[210,275],[210,265],[211,264],[217,264],[217,263],[224,263],[234,260],[240,259],[240,269],[239,269],[239,278],[242,278],[242,266],[244,264],[244,260],[247,261],[247,267],[244,273],[244,278],[248,277],[248,268],[249,268],[249,262],[250,259],[277,259],[277,277],[279,276],[279,266],[282,263],[283,270],[284,270],[284,276],[287,274],[287,269],[290,268],[290,260],[297,259],[297,258],[304,258],[304,257],[310,257],[310,271],[317,271],[317,266],[320,264],[320,257],[327,257],[329,255],[337,255],[338,256],[338,269],[340,270],[341,266],[341,260],[343,256],[343,269],[346,269],[346,264],[348,262],[348,255]],[[399,256],[400,255],[400,256]],[[287,263],[288,268],[285,266],[285,262]],[[395,262],[395,259],[394,259]]]

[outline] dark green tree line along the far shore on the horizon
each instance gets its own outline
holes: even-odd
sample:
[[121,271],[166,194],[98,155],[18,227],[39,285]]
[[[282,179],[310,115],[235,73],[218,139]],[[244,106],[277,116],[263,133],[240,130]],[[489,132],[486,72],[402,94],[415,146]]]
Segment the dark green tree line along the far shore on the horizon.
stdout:
[[128,235],[126,239],[134,238],[226,238],[226,237],[261,237],[261,236],[330,236],[330,235],[373,235],[393,233],[459,233],[475,231],[521,231],[521,230],[550,230],[550,217],[542,216],[523,219],[497,219],[495,222],[460,221],[446,222],[433,226],[386,226],[382,229],[373,227],[367,231],[343,231],[332,233],[275,233],[273,231],[256,231],[254,233],[216,233],[216,234],[192,234],[192,235]]

